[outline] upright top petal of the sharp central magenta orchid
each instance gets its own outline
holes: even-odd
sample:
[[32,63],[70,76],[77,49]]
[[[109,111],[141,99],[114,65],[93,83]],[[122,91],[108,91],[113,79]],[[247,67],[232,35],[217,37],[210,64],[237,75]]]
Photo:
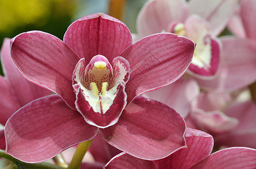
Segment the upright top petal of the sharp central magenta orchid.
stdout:
[[132,35],[121,21],[97,13],[73,22],[64,35],[64,42],[86,63],[93,56],[103,55],[111,61],[132,45]]

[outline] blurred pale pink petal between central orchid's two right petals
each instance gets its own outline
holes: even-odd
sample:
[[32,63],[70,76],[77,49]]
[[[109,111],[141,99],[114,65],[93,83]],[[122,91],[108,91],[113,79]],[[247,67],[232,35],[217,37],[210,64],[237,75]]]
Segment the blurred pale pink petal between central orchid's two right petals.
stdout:
[[143,96],[171,106],[185,118],[189,113],[191,102],[198,94],[199,86],[196,81],[181,78],[168,86],[146,92]]

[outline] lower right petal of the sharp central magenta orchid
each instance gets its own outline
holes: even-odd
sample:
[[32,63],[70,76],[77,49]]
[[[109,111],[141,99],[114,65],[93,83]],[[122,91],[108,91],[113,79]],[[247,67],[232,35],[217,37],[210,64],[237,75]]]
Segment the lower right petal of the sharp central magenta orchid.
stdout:
[[170,106],[137,96],[114,126],[100,129],[116,148],[142,159],[160,159],[185,146],[185,122]]

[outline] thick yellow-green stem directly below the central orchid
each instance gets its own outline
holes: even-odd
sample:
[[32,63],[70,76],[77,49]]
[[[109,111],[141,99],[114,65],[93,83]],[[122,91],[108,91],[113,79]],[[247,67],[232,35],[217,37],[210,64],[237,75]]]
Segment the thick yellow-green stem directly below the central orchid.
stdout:
[[84,155],[92,144],[92,141],[93,140],[84,141],[77,146],[76,152],[67,169],[79,169]]

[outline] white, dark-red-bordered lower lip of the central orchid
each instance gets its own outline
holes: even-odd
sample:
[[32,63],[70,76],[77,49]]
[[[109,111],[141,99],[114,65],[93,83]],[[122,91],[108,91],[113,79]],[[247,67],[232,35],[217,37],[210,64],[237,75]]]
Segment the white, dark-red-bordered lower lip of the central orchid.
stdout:
[[[108,97],[107,100],[101,101],[99,99],[86,100],[88,99],[84,92],[86,89],[79,87],[79,91],[76,94],[75,104],[77,110],[83,115],[87,123],[99,128],[106,128],[118,122],[122,110],[126,105],[127,95],[125,94],[122,81],[113,88],[108,91],[109,95],[112,97]],[[97,109],[99,107],[101,109]],[[105,112],[103,112],[103,110]]]

